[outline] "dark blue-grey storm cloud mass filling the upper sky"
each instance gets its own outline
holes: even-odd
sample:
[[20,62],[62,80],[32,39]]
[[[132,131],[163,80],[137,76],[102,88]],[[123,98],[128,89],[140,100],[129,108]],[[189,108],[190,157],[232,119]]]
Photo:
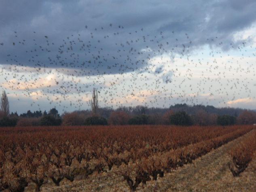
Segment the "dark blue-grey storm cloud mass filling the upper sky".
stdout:
[[154,56],[186,55],[205,44],[231,49],[231,43],[241,43],[233,34],[255,22],[255,5],[249,0],[2,0],[0,63],[76,68],[93,76],[142,69]]

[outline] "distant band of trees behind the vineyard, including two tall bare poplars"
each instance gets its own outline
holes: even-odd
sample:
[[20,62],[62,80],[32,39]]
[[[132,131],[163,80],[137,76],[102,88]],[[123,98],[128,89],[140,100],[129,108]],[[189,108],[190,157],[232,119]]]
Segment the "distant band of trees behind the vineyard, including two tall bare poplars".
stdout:
[[176,104],[169,108],[148,108],[121,106],[116,110],[98,106],[97,90],[93,89],[91,110],[64,112],[56,108],[47,111],[28,110],[20,115],[9,114],[8,97],[3,91],[1,97],[0,127],[50,126],[50,125],[122,125],[122,124],[175,124],[175,125],[232,125],[254,124],[256,112],[240,108],[215,108],[212,105]]

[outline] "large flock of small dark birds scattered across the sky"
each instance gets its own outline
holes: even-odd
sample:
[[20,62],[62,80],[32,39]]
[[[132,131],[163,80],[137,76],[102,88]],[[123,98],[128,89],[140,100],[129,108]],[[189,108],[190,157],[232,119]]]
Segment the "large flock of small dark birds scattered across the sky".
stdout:
[[[225,53],[220,51],[210,51],[207,57],[203,52],[193,53],[195,45],[189,35],[184,34],[180,43],[175,31],[165,36],[161,31],[129,32],[122,25],[110,24],[107,28],[85,25],[66,38],[38,32],[28,32],[27,39],[22,36],[15,31],[12,38],[0,42],[0,90],[13,93],[18,100],[31,97],[31,106],[38,105],[39,110],[44,98],[63,111],[70,106],[83,110],[85,103],[89,106],[93,88],[102,107],[169,107],[174,99],[210,104],[217,97],[225,103],[226,97],[252,95],[248,85],[255,80],[255,64],[239,61],[246,52],[244,42],[238,47],[231,44],[241,57],[224,55],[224,61]],[[211,42],[222,44],[218,37],[205,40],[205,44]],[[205,103],[200,95],[207,95]]]

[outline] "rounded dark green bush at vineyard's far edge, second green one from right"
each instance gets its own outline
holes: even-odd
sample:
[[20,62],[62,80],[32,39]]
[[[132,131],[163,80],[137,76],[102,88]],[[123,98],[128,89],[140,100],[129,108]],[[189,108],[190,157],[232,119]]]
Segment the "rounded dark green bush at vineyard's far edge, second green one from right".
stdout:
[[192,119],[190,118],[190,116],[184,112],[184,111],[180,111],[177,112],[175,114],[172,114],[169,118],[170,123],[171,124],[175,124],[175,125],[192,125]]

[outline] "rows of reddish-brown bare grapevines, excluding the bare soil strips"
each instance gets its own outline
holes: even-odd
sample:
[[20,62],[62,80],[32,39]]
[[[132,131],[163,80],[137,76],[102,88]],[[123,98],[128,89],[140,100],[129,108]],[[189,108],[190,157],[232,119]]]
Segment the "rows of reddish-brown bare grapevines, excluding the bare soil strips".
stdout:
[[106,174],[135,191],[238,137],[229,151],[234,176],[254,157],[251,125],[4,127],[0,191],[40,191]]

